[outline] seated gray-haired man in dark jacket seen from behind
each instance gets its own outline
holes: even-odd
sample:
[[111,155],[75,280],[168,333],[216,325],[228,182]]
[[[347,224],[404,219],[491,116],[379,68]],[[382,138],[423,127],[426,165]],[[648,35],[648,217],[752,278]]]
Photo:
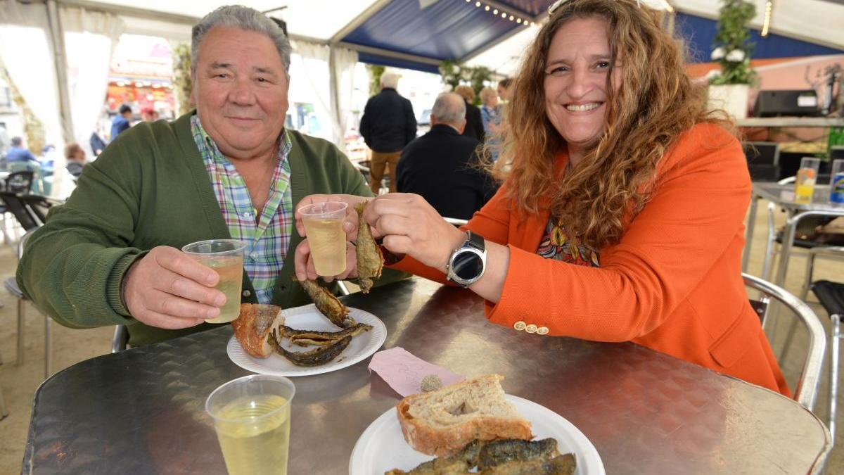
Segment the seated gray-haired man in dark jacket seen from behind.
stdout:
[[477,139],[461,135],[466,106],[455,93],[441,94],[430,112],[430,132],[404,148],[398,191],[421,195],[441,216],[468,220],[493,194],[495,183],[477,168]]

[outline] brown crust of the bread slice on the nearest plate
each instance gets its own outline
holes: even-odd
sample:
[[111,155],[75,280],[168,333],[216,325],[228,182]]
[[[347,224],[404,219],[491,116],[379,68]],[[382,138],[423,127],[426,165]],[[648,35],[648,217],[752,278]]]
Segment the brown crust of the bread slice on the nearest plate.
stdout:
[[[502,379],[501,376],[495,376]],[[468,379],[448,387],[470,385],[475,380],[477,379]],[[410,406],[416,399],[430,397],[433,393],[436,391],[407,396],[399,401],[396,407],[404,440],[407,440],[415,450],[430,456],[450,456],[475,439],[533,439],[530,421],[521,417],[500,418],[479,415],[455,426],[439,429],[410,415]]]

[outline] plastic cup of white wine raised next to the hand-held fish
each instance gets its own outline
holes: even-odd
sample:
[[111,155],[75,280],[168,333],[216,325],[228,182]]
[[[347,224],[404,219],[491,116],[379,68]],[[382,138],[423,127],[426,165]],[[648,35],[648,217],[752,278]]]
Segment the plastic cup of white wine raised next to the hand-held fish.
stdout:
[[318,276],[337,276],[346,270],[343,221],[348,207],[342,201],[326,201],[299,209]]

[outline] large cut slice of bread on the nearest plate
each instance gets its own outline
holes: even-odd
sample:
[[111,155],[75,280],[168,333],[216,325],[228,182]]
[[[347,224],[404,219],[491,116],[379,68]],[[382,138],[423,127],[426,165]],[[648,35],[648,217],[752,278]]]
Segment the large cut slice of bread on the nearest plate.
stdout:
[[487,374],[398,402],[404,440],[430,456],[449,456],[475,439],[533,439],[530,421],[506,401],[500,374]]

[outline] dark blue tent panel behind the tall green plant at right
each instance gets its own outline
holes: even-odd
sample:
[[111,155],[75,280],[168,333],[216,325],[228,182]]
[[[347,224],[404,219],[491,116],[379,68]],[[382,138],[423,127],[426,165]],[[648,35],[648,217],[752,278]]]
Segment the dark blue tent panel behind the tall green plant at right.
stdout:
[[[688,14],[677,14],[675,22],[677,34],[686,41],[691,63],[708,63],[715,40],[716,22]],[[751,58],[764,59],[773,57],[803,57],[824,54],[841,54],[844,51],[815,45],[806,41],[794,40],[781,35],[769,34],[765,38],[759,30],[750,30],[750,41],[755,43]]]

